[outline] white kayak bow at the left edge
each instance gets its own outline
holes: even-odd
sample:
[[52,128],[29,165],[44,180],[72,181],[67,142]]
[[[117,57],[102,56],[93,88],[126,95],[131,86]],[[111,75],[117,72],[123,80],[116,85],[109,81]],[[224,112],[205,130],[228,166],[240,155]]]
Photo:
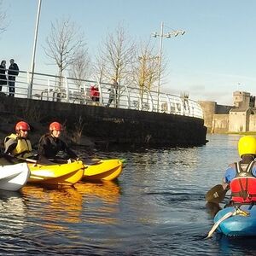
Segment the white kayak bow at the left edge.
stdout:
[[26,184],[29,176],[26,163],[0,166],[0,189],[17,191]]

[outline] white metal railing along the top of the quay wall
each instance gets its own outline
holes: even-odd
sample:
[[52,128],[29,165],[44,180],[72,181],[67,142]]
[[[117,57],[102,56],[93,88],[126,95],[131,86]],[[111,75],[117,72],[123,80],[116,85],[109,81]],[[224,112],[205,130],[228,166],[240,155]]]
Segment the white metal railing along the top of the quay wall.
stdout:
[[[8,77],[8,76],[7,76]],[[30,83],[31,73],[20,71],[15,81],[15,97],[32,98],[41,101],[69,102],[85,105],[108,106],[109,94],[113,84],[99,83],[92,80],[58,77],[44,73],[34,73],[33,83]],[[97,85],[97,96],[92,98],[90,86]],[[172,113],[203,119],[201,106],[184,96],[160,93],[158,111],[158,92],[140,90],[132,86],[114,88],[113,102],[110,108],[127,108],[148,112]],[[9,86],[3,84],[2,92],[9,95]],[[107,107],[106,107],[107,108]]]

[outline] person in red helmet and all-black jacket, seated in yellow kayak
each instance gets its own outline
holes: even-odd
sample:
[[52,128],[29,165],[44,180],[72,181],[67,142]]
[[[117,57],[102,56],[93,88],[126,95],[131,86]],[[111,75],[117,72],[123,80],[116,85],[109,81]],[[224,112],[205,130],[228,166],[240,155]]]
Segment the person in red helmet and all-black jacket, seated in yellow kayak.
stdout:
[[[61,140],[62,125],[53,122],[49,125],[49,133],[44,134],[38,143],[38,159],[68,160],[78,159],[77,154]],[[61,155],[60,155],[61,154]]]

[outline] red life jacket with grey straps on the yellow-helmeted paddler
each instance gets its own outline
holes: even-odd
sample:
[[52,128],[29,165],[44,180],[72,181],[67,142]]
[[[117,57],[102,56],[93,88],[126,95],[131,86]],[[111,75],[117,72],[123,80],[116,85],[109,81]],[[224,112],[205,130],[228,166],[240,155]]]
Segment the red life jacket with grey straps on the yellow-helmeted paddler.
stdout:
[[246,166],[241,166],[239,162],[235,164],[236,177],[230,182],[231,201],[239,203],[256,201],[256,177],[252,173],[254,164],[254,161]]

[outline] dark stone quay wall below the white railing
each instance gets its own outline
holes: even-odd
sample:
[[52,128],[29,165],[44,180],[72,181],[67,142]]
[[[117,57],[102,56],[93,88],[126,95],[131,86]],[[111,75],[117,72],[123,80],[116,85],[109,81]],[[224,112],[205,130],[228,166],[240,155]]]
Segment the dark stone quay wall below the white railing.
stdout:
[[6,96],[1,97],[0,111],[30,124],[49,125],[54,120],[60,121],[67,131],[105,145],[189,147],[206,144],[204,120],[181,115]]

